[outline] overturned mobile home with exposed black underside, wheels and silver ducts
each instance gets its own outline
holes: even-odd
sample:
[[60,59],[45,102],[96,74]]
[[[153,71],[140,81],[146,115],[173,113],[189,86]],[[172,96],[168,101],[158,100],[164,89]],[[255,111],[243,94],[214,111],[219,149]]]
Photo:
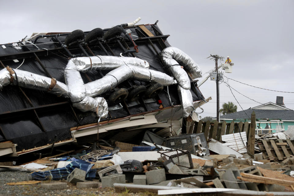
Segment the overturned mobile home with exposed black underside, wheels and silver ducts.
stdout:
[[2,44],[0,156],[132,141],[146,130],[168,137],[197,119],[210,99],[197,87],[200,68],[156,23],[136,22]]

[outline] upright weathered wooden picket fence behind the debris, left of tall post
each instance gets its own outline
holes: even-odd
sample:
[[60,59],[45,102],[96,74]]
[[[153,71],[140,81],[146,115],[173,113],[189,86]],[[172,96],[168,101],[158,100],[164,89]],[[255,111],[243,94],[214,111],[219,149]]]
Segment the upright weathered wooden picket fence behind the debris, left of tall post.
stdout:
[[217,141],[221,141],[221,135],[239,133],[239,129],[240,132],[246,132],[247,140],[249,140],[248,132],[250,130],[250,123],[248,122],[235,123],[232,121],[231,123],[227,123],[223,121],[219,123],[217,120],[212,122],[209,120],[206,122],[199,120],[199,122],[195,122],[193,131],[190,130],[190,133],[204,133],[206,140],[213,138]]

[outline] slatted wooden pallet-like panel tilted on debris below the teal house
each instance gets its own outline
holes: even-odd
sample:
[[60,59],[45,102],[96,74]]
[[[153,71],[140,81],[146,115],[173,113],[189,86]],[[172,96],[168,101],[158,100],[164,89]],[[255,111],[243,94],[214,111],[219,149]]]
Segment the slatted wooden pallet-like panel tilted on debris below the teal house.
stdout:
[[294,156],[294,141],[288,140],[261,140],[258,147],[262,152],[263,159],[270,161],[282,161]]

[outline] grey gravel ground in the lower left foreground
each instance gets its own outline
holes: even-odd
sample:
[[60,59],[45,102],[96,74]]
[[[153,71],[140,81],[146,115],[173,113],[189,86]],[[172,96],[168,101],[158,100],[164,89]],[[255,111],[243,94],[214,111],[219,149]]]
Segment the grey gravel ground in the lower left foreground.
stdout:
[[[90,188],[90,189],[77,189],[71,183],[67,183],[67,189],[63,190],[47,190],[41,188],[41,184],[28,184],[28,185],[6,185],[9,182],[20,182],[30,180],[30,172],[28,171],[0,171],[0,196],[50,196],[50,195],[68,195],[68,196],[154,196],[153,193],[115,193],[114,188]],[[50,181],[43,181],[42,183],[49,183]],[[58,181],[51,181],[58,182]],[[60,180],[66,182],[66,180]]]

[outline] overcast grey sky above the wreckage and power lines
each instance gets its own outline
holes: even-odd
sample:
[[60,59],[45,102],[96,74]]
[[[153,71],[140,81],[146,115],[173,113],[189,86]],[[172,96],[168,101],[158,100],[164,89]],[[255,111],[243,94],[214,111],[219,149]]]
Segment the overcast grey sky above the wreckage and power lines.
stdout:
[[[230,56],[233,73],[225,76],[265,89],[294,92],[294,1],[4,1],[1,0],[0,43],[17,42],[32,32],[90,31],[94,28],[142,20],[171,35],[169,43],[190,55],[206,72],[215,66],[210,54]],[[205,74],[206,73],[206,74]],[[202,78],[199,78],[201,81]],[[271,92],[229,84],[260,103],[284,96],[294,109],[294,93]],[[205,116],[216,116],[216,84],[206,81],[201,92],[213,100],[203,105]],[[243,109],[260,105],[233,90]],[[228,87],[220,84],[220,104],[237,104]],[[238,111],[241,108],[238,106]],[[200,110],[199,110],[200,111]]]

